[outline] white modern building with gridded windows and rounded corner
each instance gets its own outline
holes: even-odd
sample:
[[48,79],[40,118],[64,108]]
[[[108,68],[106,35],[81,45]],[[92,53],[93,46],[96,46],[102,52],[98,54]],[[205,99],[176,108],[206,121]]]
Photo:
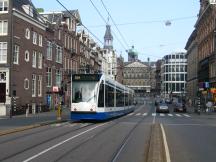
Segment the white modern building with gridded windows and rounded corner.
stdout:
[[162,94],[169,96],[185,96],[187,80],[187,59],[185,53],[166,55],[162,61]]

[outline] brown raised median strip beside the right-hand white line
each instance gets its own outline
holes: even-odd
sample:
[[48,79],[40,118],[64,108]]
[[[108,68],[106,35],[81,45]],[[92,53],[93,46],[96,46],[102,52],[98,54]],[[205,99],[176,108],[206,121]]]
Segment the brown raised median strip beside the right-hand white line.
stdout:
[[152,125],[147,162],[165,162],[162,132],[159,124]]

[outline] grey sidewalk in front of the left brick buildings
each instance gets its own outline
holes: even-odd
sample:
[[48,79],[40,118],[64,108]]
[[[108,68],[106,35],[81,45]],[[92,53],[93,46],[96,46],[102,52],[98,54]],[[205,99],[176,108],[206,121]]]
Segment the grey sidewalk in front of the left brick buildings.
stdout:
[[[64,108],[62,111],[62,121],[70,119],[69,108]],[[0,117],[0,134],[6,130],[24,128],[33,125],[46,124],[57,121],[56,111],[43,112],[37,114],[18,115],[9,117]]]

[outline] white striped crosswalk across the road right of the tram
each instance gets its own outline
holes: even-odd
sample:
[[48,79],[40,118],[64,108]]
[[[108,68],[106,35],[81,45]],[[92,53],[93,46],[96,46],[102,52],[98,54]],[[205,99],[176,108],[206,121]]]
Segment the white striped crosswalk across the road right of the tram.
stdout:
[[151,116],[153,116],[153,117],[156,117],[156,116],[158,116],[158,117],[179,117],[179,118],[181,118],[181,117],[186,117],[186,118],[191,118],[191,116],[190,115],[188,115],[188,114],[176,114],[176,113],[174,113],[174,114],[171,114],[171,113],[168,113],[168,114],[164,114],[164,113],[147,113],[147,112],[145,112],[145,113],[130,113],[130,114],[128,114],[128,116],[148,116],[148,115],[151,115]]

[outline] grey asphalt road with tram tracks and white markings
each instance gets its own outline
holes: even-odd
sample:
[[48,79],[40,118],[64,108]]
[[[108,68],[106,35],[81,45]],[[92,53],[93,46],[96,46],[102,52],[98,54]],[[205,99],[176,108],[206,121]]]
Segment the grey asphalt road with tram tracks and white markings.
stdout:
[[164,127],[172,162],[215,161],[214,115],[156,114],[153,101],[106,122],[67,122],[1,136],[0,161],[144,162],[154,123]]

